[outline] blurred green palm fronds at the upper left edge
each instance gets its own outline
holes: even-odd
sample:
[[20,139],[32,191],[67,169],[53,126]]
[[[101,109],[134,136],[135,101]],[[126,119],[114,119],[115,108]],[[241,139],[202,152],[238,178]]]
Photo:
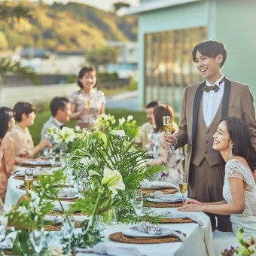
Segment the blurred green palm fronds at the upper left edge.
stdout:
[[[32,18],[31,10],[21,4],[13,5],[11,2],[0,3],[0,28],[2,30],[7,26],[13,26],[20,19]],[[20,62],[14,62],[11,58],[0,57],[0,78],[3,79],[7,74],[17,75],[20,78],[29,78],[36,84],[40,83],[40,78],[29,66],[21,66]]]

